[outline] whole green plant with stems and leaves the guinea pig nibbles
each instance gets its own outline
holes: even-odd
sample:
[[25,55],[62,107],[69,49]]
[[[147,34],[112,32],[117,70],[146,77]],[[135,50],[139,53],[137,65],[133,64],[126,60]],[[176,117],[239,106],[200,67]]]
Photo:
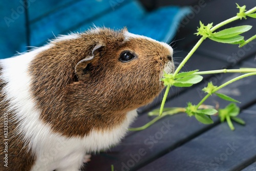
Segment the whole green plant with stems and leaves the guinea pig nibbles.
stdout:
[[[178,66],[178,68],[176,69],[176,71],[173,74],[164,74],[164,78],[161,79],[164,82],[164,85],[166,86],[166,90],[165,90],[165,93],[163,96],[160,110],[154,110],[151,113],[149,113],[149,115],[151,115],[151,116],[152,115],[159,115],[159,116],[156,117],[155,119],[153,119],[151,122],[148,122],[144,126],[130,129],[131,131],[140,131],[140,130],[146,129],[146,127],[152,125],[154,122],[159,120],[162,116],[173,115],[173,114],[176,114],[179,112],[185,112],[190,117],[195,116],[198,121],[200,121],[204,124],[213,123],[210,116],[219,113],[219,117],[220,117],[221,121],[223,122],[226,120],[231,130],[234,130],[234,126],[231,122],[231,119],[240,124],[245,124],[245,122],[242,119],[237,117],[237,115],[240,112],[240,109],[238,108],[238,106],[235,103],[233,103],[233,102],[239,102],[239,101],[237,101],[227,95],[217,93],[217,91],[234,81],[237,81],[239,79],[242,79],[242,78],[245,78],[248,76],[256,75],[255,68],[240,68],[240,69],[236,69],[236,70],[223,69],[223,70],[212,70],[212,71],[203,71],[203,72],[199,72],[199,70],[195,70],[195,71],[179,73],[180,70],[182,69],[182,67],[187,62],[187,60],[194,54],[194,52],[198,49],[198,47],[202,44],[202,42],[206,38],[209,38],[213,41],[225,43],[225,44],[239,45],[239,47],[245,46],[246,44],[248,44],[248,42],[250,42],[256,38],[256,35],[254,35],[254,36],[248,38],[247,40],[244,40],[244,36],[240,35],[252,28],[252,26],[247,26],[247,25],[228,28],[228,29],[221,30],[219,32],[215,32],[217,29],[227,25],[228,23],[233,22],[234,20],[246,19],[246,17],[256,18],[256,13],[255,13],[256,7],[247,11],[245,9],[246,6],[240,7],[237,4],[237,8],[239,9],[239,12],[237,13],[236,16],[231,17],[231,18],[225,20],[224,22],[219,23],[218,25],[216,25],[214,27],[213,27],[213,23],[205,26],[204,24],[202,24],[202,22],[200,22],[200,27],[197,30],[198,32],[195,33],[198,36],[199,35],[201,36],[201,38],[199,39],[197,44],[194,46],[193,49],[191,49],[191,51],[183,59],[183,61],[180,63],[180,65]],[[196,83],[199,83],[200,81],[202,81],[203,77],[201,75],[217,74],[217,73],[245,73],[245,74],[238,76],[236,78],[233,78],[218,87],[214,86],[211,82],[209,82],[208,86],[203,89],[203,91],[205,93],[207,93],[207,95],[205,95],[204,98],[197,105],[194,105],[191,102],[188,102],[187,106],[185,108],[164,108],[164,104],[165,104],[168,92],[170,90],[170,87],[172,87],[172,86],[190,87],[190,86],[193,86],[193,84],[196,84]],[[218,111],[213,108],[200,109],[200,106],[203,104],[203,102],[208,97],[210,97],[212,94],[216,94],[218,97],[220,97],[224,100],[227,100],[227,101],[231,101],[232,103],[227,105],[226,108],[219,109]]]

